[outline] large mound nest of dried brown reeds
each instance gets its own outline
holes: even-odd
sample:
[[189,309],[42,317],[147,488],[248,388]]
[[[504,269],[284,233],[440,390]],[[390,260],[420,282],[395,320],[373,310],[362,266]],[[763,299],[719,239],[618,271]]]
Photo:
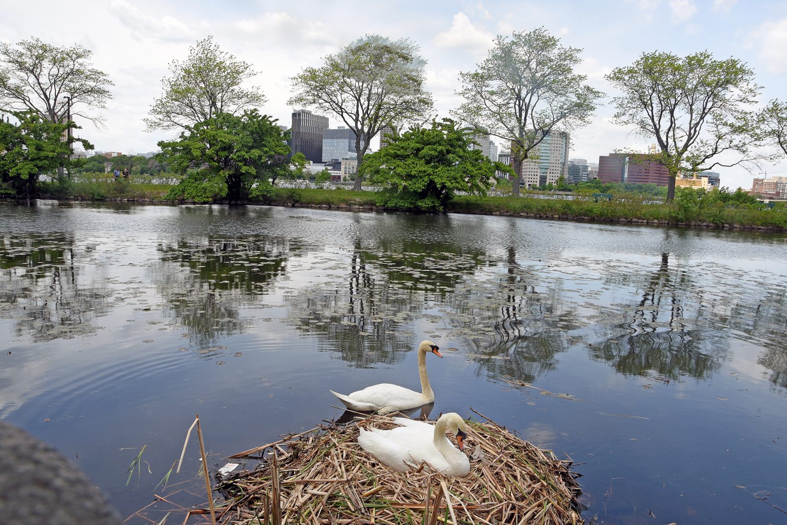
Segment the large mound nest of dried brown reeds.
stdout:
[[[473,411],[475,412],[475,411]],[[475,412],[478,414],[478,412]],[[220,523],[583,523],[571,460],[523,441],[492,420],[469,420],[471,471],[446,478],[428,465],[397,472],[357,443],[358,427],[391,428],[384,416],[316,427],[235,454],[259,468],[220,479]]]

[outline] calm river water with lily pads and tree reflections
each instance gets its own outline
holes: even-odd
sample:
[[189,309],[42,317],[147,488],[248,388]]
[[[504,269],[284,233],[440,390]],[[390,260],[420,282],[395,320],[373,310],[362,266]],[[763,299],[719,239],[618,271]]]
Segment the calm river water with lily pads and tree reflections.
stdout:
[[417,390],[429,338],[433,416],[571,457],[587,519],[785,523],[785,256],[764,232],[0,203],[0,418],[127,516],[195,479],[192,440],[156,489],[195,413],[220,467],[338,417],[329,389]]

